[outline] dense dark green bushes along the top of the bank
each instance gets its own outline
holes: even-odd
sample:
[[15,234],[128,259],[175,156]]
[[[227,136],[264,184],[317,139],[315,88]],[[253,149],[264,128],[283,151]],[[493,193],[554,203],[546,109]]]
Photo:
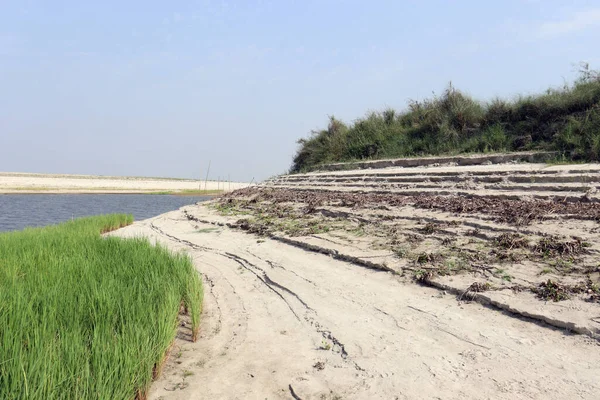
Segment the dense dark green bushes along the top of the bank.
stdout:
[[552,150],[566,159],[599,160],[600,74],[582,65],[573,85],[514,101],[474,100],[449,85],[408,109],[370,113],[300,139],[291,172],[324,163],[384,157]]

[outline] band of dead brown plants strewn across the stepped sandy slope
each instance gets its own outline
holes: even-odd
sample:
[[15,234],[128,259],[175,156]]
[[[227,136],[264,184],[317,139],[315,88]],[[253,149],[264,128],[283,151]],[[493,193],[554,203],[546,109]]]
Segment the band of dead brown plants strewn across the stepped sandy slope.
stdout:
[[[418,282],[472,275],[482,281],[470,292],[518,287],[543,300],[599,296],[599,249],[590,239],[597,203],[254,187],[220,197],[214,208],[250,233],[372,253],[364,256],[369,263]],[[570,234],[580,225],[592,227]]]

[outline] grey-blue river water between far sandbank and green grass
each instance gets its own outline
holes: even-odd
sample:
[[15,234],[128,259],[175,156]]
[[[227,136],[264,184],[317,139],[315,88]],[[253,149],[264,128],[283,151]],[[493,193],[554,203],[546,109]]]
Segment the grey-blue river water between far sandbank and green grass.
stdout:
[[0,194],[0,232],[110,213],[133,214],[139,221],[208,199],[151,194]]

